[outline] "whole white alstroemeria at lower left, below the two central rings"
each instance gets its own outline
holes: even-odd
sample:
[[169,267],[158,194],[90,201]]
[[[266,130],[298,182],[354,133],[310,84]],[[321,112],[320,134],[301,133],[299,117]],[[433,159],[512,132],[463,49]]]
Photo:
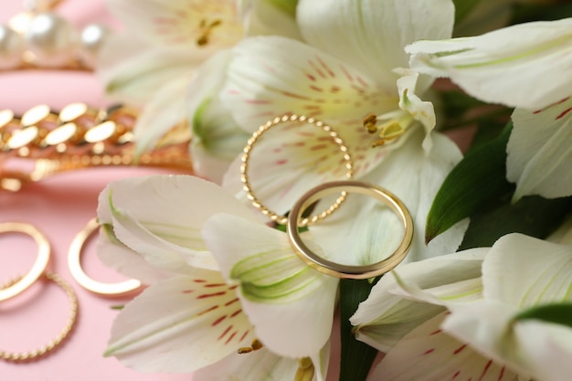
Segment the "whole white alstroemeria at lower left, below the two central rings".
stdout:
[[[193,372],[226,359],[236,365],[228,372],[246,372],[240,364],[251,363],[249,354],[237,351],[256,337],[260,369],[295,373],[296,359],[311,358],[323,380],[337,279],[308,268],[285,233],[219,186],[186,175],[111,183],[98,215],[109,236],[101,249],[132,249],[162,275],[120,312],[107,355],[140,371]],[[207,368],[203,379],[213,372],[221,370]],[[241,380],[254,381],[263,372],[246,374]]]

